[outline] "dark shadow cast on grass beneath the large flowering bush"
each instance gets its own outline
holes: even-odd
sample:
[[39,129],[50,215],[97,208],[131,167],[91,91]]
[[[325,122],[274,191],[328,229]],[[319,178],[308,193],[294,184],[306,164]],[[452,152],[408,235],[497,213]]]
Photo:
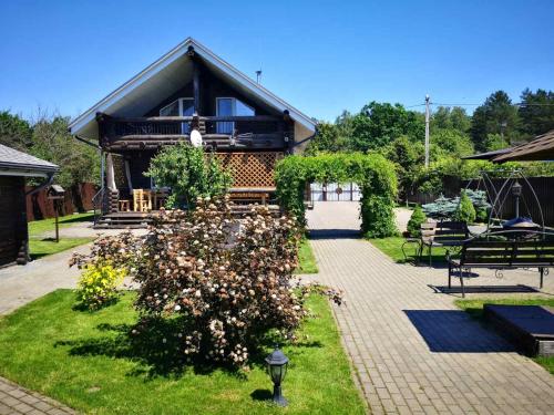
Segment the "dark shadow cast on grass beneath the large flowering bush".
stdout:
[[[184,326],[188,329],[183,330]],[[238,378],[246,378],[245,373],[236,366],[207,361],[205,355],[192,357],[185,354],[186,333],[191,333],[194,328],[182,317],[143,319],[136,324],[103,323],[99,324],[96,330],[106,335],[58,341],[54,347],[68,347],[71,356],[107,356],[133,361],[137,365],[129,373],[130,376],[181,377],[187,371],[193,371],[194,374],[209,374],[223,370]],[[182,336],[178,333],[183,333]],[[250,366],[265,367],[265,351],[277,344],[277,339],[267,333],[259,338],[261,341],[257,347],[248,345],[248,363]],[[295,351],[288,354],[294,356],[301,353],[301,349],[321,346],[320,342],[299,342],[295,343]],[[202,344],[201,350],[206,350],[206,346]]]

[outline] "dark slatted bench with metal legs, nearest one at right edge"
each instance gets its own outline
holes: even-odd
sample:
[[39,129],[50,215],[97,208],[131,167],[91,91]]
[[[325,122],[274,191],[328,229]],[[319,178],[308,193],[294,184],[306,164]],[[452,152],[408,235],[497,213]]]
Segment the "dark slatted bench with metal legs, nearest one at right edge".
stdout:
[[447,252],[449,264],[449,288],[452,288],[452,277],[458,273],[462,297],[463,270],[471,272],[472,268],[489,268],[495,270],[516,268],[537,268],[540,288],[550,267],[554,267],[554,235],[540,231],[520,231],[520,238],[505,239],[514,231],[482,234],[462,243],[460,258],[454,259]]

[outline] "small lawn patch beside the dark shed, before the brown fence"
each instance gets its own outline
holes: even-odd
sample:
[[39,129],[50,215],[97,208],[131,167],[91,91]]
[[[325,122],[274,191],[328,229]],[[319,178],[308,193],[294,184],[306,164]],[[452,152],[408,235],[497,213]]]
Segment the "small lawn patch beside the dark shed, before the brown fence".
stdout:
[[[60,228],[66,228],[75,222],[91,221],[93,214],[73,214],[59,218]],[[54,218],[34,220],[29,222],[29,252],[31,259],[38,259],[48,255],[58,253],[83,243],[89,243],[94,238],[60,238],[57,242],[53,238],[44,238],[48,231],[54,231]]]

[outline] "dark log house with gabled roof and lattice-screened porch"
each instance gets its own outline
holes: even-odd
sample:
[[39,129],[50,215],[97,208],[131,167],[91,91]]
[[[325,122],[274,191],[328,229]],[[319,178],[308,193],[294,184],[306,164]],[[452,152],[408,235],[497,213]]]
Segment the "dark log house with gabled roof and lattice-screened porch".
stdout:
[[301,152],[316,122],[189,38],[70,128],[102,152],[101,224],[125,226],[163,205],[163,191],[144,173],[161,147],[189,141],[193,129],[232,167],[236,199],[267,201],[276,162]]

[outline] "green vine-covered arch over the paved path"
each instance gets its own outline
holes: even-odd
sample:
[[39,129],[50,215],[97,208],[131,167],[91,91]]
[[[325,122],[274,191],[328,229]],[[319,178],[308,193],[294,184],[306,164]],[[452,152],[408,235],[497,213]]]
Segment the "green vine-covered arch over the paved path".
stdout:
[[397,232],[393,212],[397,174],[393,164],[379,154],[288,156],[277,164],[275,180],[279,203],[302,226],[306,225],[304,191],[307,184],[356,181],[362,194],[362,235],[382,238]]

